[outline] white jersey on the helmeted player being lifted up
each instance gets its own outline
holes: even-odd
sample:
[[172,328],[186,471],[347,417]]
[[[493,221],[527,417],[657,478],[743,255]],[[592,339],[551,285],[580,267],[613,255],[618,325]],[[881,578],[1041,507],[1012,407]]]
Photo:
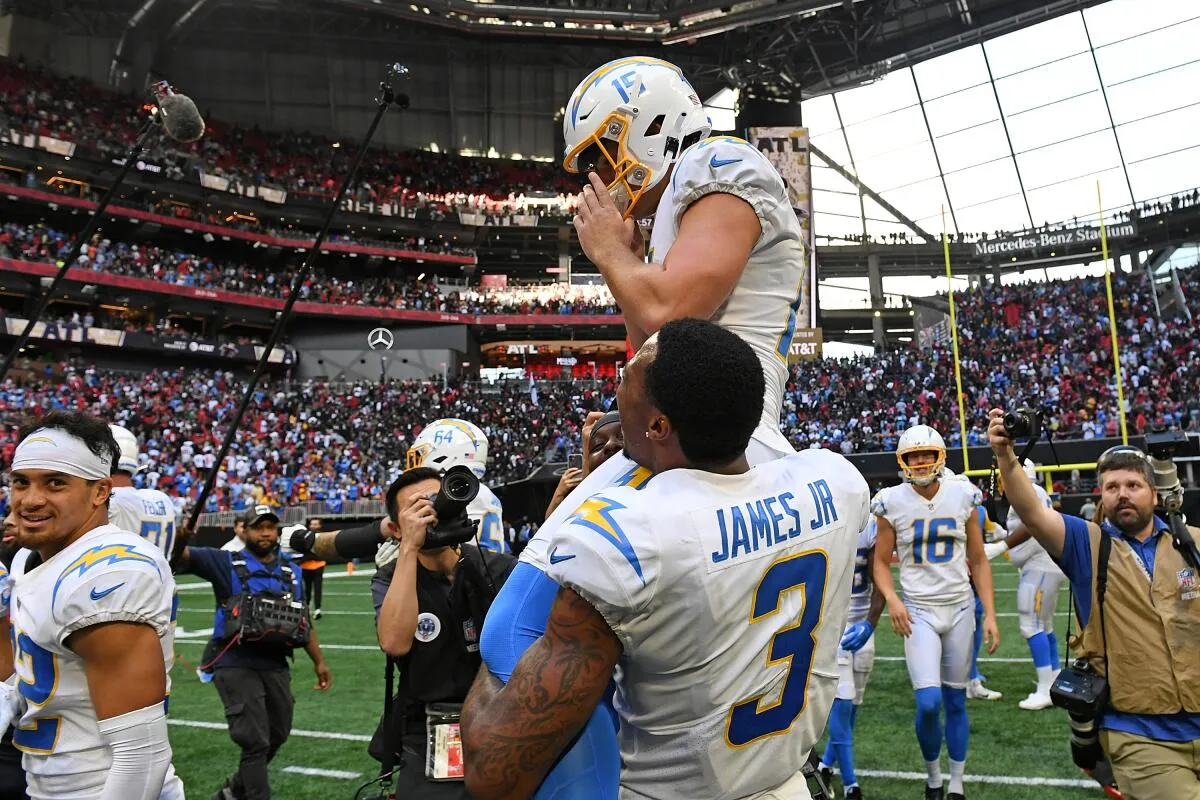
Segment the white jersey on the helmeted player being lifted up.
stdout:
[[767,157],[749,142],[728,136],[684,150],[655,211],[650,261],[666,260],[684,211],[715,192],[749,203],[762,227],[742,278],[712,321],[737,333],[758,355],[767,379],[762,421],[778,431],[787,351],[797,326],[808,325],[808,309],[800,303],[808,296],[809,254],[784,179]]

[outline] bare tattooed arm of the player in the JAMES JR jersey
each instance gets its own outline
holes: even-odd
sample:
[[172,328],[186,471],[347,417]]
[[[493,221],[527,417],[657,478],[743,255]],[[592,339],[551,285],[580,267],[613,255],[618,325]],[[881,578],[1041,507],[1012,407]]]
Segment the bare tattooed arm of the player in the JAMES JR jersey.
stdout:
[[620,651],[600,613],[575,591],[559,589],[546,632],[517,662],[508,685],[496,691],[499,681],[485,667],[467,697],[467,792],[475,800],[532,796],[600,703]]

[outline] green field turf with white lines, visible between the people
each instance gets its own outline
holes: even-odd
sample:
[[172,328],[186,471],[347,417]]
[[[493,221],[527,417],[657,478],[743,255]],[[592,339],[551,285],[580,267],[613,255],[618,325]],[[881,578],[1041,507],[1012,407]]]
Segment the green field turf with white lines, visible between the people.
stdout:
[[[1033,667],[1016,627],[1016,571],[1004,560],[995,563],[994,569],[1002,640],[992,658],[1001,661],[984,661],[982,669],[988,675],[988,685],[1003,692],[1004,698],[998,703],[968,702],[967,798],[1102,798],[1096,788],[1072,786],[1082,775],[1070,763],[1066,715],[1057,709],[1031,712],[1016,706],[1033,690]],[[383,706],[383,658],[374,649],[368,581],[361,573],[334,579],[326,573],[324,616],[317,622],[317,630],[323,644],[352,649],[326,650],[334,686],[325,693],[312,691],[314,678],[308,658],[300,654],[295,661],[295,724],[292,738],[271,763],[272,796],[278,800],[348,799],[359,783],[378,769],[366,754],[366,739],[374,730]],[[181,585],[190,582],[191,578],[185,577]],[[212,625],[212,595],[206,589],[185,588],[180,596],[179,622],[185,632],[176,645],[179,658],[173,672],[170,736],[175,766],[188,796],[205,800],[235,769],[238,750],[224,730],[216,688],[200,684],[192,668],[200,657],[204,639],[187,631]],[[1060,640],[1066,638],[1062,621],[1066,599],[1064,591],[1058,603]],[[859,783],[872,800],[922,798],[924,764],[912,728],[912,690],[901,640],[890,632],[886,618],[876,642],[878,658],[856,732]],[[336,770],[360,777],[301,775],[287,771],[288,768]],[[908,775],[898,776],[896,772]],[[948,776],[944,756],[943,772]],[[995,782],[983,783],[972,776],[991,776]],[[1064,784],[1028,782],[1039,778]]]

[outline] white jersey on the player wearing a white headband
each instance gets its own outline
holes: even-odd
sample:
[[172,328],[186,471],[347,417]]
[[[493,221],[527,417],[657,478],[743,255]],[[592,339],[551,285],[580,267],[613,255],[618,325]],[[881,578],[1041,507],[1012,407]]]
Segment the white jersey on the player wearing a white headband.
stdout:
[[88,531],[26,573],[28,555],[18,553],[10,577],[13,660],[28,702],[13,745],[25,753],[30,798],[91,799],[112,757],[83,660],[66,640],[94,625],[142,622],[157,633],[169,669],[175,579],[158,548],[116,525]]

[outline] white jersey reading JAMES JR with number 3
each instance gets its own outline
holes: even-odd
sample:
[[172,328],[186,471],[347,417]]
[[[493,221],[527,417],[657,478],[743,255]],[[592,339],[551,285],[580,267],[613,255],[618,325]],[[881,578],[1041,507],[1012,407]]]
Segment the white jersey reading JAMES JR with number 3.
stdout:
[[613,487],[551,535],[546,573],[620,639],[622,798],[776,787],[838,685],[866,481],[811,450],[743,475],[677,469]]

